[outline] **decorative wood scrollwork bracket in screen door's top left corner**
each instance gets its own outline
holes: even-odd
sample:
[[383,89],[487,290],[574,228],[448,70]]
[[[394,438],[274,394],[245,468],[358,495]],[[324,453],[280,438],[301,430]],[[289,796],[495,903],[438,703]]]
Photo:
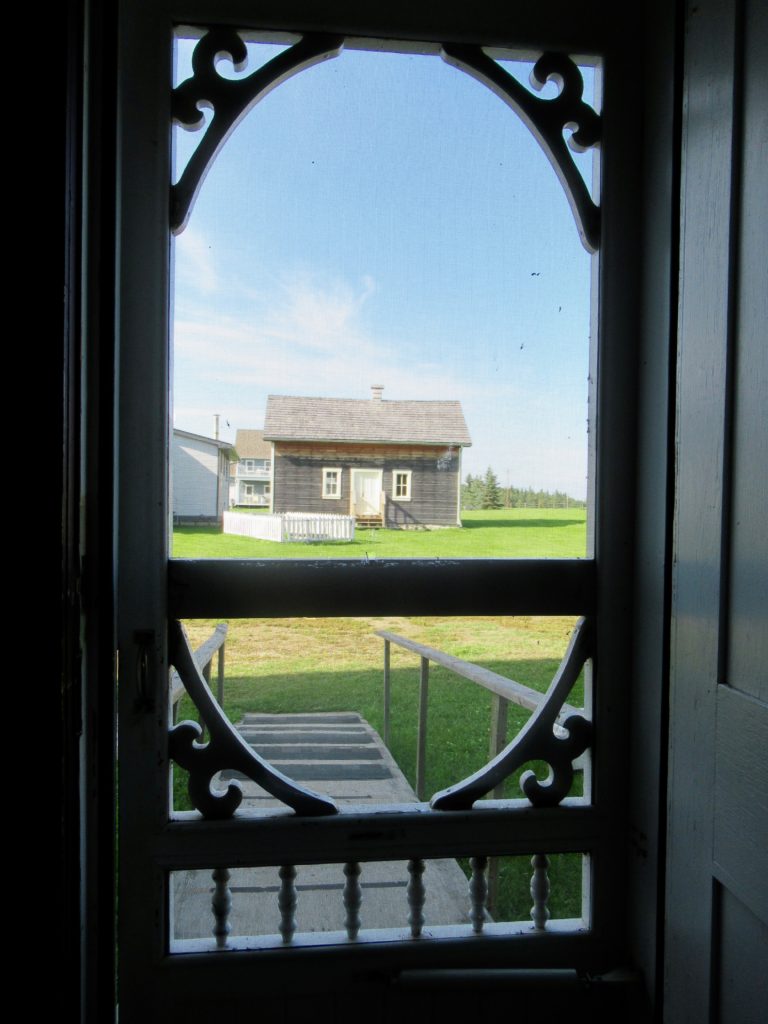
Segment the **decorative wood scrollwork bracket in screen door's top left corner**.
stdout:
[[171,230],[183,230],[200,186],[216,155],[243,118],[255,104],[287,79],[341,52],[342,36],[306,35],[290,49],[279,53],[252,75],[241,79],[222,78],[216,65],[227,54],[236,71],[248,62],[246,44],[232,29],[211,29],[193,52],[193,76],[173,90],[173,120],[188,131],[205,125],[201,108],[213,110],[200,144],[189,158],[181,177],[171,185]]

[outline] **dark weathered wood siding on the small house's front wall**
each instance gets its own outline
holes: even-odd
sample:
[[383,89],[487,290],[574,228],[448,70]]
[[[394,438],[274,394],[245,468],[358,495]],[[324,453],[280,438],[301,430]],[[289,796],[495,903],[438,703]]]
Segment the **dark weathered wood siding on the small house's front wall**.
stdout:
[[[460,450],[404,444],[274,445],[274,511],[348,515],[352,469],[383,470],[386,525],[458,525]],[[341,497],[323,497],[323,470],[341,469]],[[410,470],[411,501],[392,496],[395,470]]]

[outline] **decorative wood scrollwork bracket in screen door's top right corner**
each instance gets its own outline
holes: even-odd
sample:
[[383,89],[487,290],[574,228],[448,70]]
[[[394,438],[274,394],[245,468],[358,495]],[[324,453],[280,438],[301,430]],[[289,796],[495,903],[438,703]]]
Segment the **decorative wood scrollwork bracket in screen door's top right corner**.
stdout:
[[[601,134],[600,116],[582,99],[584,80],[579,68],[564,53],[544,53],[534,66],[530,84],[542,89],[551,81],[560,88],[553,99],[544,99],[524,89],[479,46],[445,44],[441,56],[446,63],[486,85],[527,125],[565,189],[582,244],[588,252],[597,252],[600,208],[592,201],[568,153],[568,145],[578,153],[598,145]],[[572,129],[567,144],[564,128]]]

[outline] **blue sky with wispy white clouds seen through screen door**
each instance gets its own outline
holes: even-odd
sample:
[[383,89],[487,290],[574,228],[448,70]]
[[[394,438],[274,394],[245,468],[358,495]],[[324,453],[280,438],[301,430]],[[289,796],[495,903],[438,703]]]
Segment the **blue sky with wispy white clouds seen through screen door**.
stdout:
[[[177,166],[199,137],[176,130]],[[233,438],[267,394],[383,384],[462,402],[465,473],[583,498],[590,264],[495,95],[437,56],[344,51],[251,111],[174,242],[174,423],[211,434],[218,413]]]

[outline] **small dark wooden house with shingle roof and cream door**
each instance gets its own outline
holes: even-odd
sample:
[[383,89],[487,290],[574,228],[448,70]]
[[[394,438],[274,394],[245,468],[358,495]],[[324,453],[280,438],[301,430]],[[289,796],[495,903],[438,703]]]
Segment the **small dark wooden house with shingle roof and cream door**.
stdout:
[[461,453],[471,444],[458,401],[270,395],[274,512],[354,515],[358,524],[460,526]]

